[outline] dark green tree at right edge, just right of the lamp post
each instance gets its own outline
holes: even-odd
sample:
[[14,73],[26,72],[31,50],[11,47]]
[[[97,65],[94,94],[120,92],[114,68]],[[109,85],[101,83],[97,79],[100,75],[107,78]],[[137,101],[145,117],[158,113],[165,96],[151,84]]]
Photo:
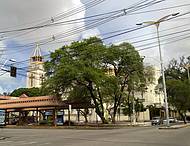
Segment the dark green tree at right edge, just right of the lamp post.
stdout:
[[190,57],[172,59],[165,70],[169,104],[174,107],[186,123],[186,112],[190,109],[190,83],[187,80],[187,65]]

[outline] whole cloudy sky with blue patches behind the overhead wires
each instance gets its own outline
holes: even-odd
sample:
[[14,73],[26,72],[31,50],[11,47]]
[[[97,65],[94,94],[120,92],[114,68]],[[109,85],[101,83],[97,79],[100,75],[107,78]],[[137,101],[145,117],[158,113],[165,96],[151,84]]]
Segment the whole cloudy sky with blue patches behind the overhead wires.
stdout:
[[[88,7],[87,3],[91,1],[92,0],[0,0],[0,32],[32,27],[39,24],[44,24],[45,22],[45,24],[49,24],[51,23],[51,18],[55,18],[55,16],[59,16],[63,12],[69,11],[73,8]],[[100,13],[128,8],[139,1],[140,0],[105,0],[93,8],[86,9],[72,16],[68,15],[69,17],[67,18],[65,15],[63,15],[60,21],[88,17]],[[154,12],[152,11],[179,5],[186,6]],[[0,33],[0,66],[7,59],[15,59],[17,62],[27,60],[32,54],[32,50],[35,48],[34,44],[40,42],[41,40],[50,41],[50,43],[40,46],[42,53],[45,55],[49,51],[59,48],[72,40],[79,40],[92,35],[98,35],[101,38],[105,38],[107,37],[105,34],[108,32],[137,27],[136,23],[152,20],[156,21],[163,16],[176,12],[180,12],[180,14],[186,13],[190,11],[190,2],[189,0],[165,0],[160,4],[150,6],[137,12],[144,11],[151,12],[123,16],[100,26],[95,26],[94,28],[86,31],[84,31],[84,28],[87,29],[90,23],[87,21],[72,23],[69,25],[59,25],[56,27],[29,30],[25,32]],[[185,15],[171,21],[163,22],[160,25],[161,43],[165,44],[162,45],[165,64],[167,64],[171,58],[189,55],[189,40],[185,39],[183,41],[179,41],[183,37],[188,38],[188,31],[184,31],[189,29],[190,26],[190,19],[188,18],[189,15]],[[84,30],[77,31],[75,35],[66,37],[71,30],[73,31],[78,28],[83,28]],[[146,56],[145,61],[147,63],[158,65],[158,48],[152,47],[156,45],[156,39],[151,39],[156,37],[155,31],[155,26],[150,26],[148,28],[107,39],[105,40],[105,43],[110,44],[127,41],[132,43],[137,49],[149,47],[151,49],[141,51],[140,53],[142,56]],[[59,33],[61,33],[61,37],[64,38],[58,39],[56,37],[56,39],[52,41],[51,38],[54,35],[57,36],[56,34]],[[171,33],[175,33],[175,35],[168,35]],[[167,44],[168,42],[172,43]],[[31,46],[28,45],[30,43],[32,43]],[[152,45],[150,45],[151,43]],[[1,51],[2,49],[4,49],[3,54]],[[10,61],[7,62],[7,64],[10,63]],[[25,69],[27,69],[27,65],[28,61],[16,64],[17,67],[25,67]],[[18,87],[25,87],[25,77],[23,75],[18,76],[17,78],[11,78],[9,77],[8,73],[1,75],[2,73],[4,72],[0,71],[0,93],[4,91],[12,91]],[[19,71],[19,73],[26,74],[26,71]]]

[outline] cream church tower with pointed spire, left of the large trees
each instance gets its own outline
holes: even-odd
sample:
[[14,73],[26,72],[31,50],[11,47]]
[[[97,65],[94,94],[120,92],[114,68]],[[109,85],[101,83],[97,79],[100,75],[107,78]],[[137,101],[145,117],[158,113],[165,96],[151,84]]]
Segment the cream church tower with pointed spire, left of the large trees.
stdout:
[[39,45],[36,45],[32,56],[30,57],[29,69],[27,72],[27,88],[40,87],[44,79],[44,61],[41,55]]

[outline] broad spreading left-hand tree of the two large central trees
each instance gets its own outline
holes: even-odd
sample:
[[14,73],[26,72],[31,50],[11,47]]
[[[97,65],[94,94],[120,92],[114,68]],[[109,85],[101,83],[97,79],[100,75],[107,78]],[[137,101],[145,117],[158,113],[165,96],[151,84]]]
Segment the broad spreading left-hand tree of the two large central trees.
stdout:
[[45,63],[48,78],[43,85],[50,94],[64,98],[73,94],[76,86],[83,86],[89,91],[103,123],[106,123],[104,101],[99,91],[107,78],[102,69],[105,49],[101,40],[91,38],[56,50]]

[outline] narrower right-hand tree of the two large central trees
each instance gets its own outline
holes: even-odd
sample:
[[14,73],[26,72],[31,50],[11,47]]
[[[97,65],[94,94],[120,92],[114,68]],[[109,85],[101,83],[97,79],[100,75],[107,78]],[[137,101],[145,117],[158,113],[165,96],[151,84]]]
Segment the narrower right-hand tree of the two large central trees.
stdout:
[[[114,76],[111,79],[111,85],[108,92],[113,102],[112,122],[115,123],[115,116],[118,107],[121,105],[126,93],[134,88],[139,88],[145,83],[143,59],[135,48],[129,43],[113,45],[107,49],[103,64],[105,69],[113,67]],[[110,83],[110,79],[109,79]],[[145,84],[144,84],[145,85]],[[110,92],[110,90],[112,92]]]

